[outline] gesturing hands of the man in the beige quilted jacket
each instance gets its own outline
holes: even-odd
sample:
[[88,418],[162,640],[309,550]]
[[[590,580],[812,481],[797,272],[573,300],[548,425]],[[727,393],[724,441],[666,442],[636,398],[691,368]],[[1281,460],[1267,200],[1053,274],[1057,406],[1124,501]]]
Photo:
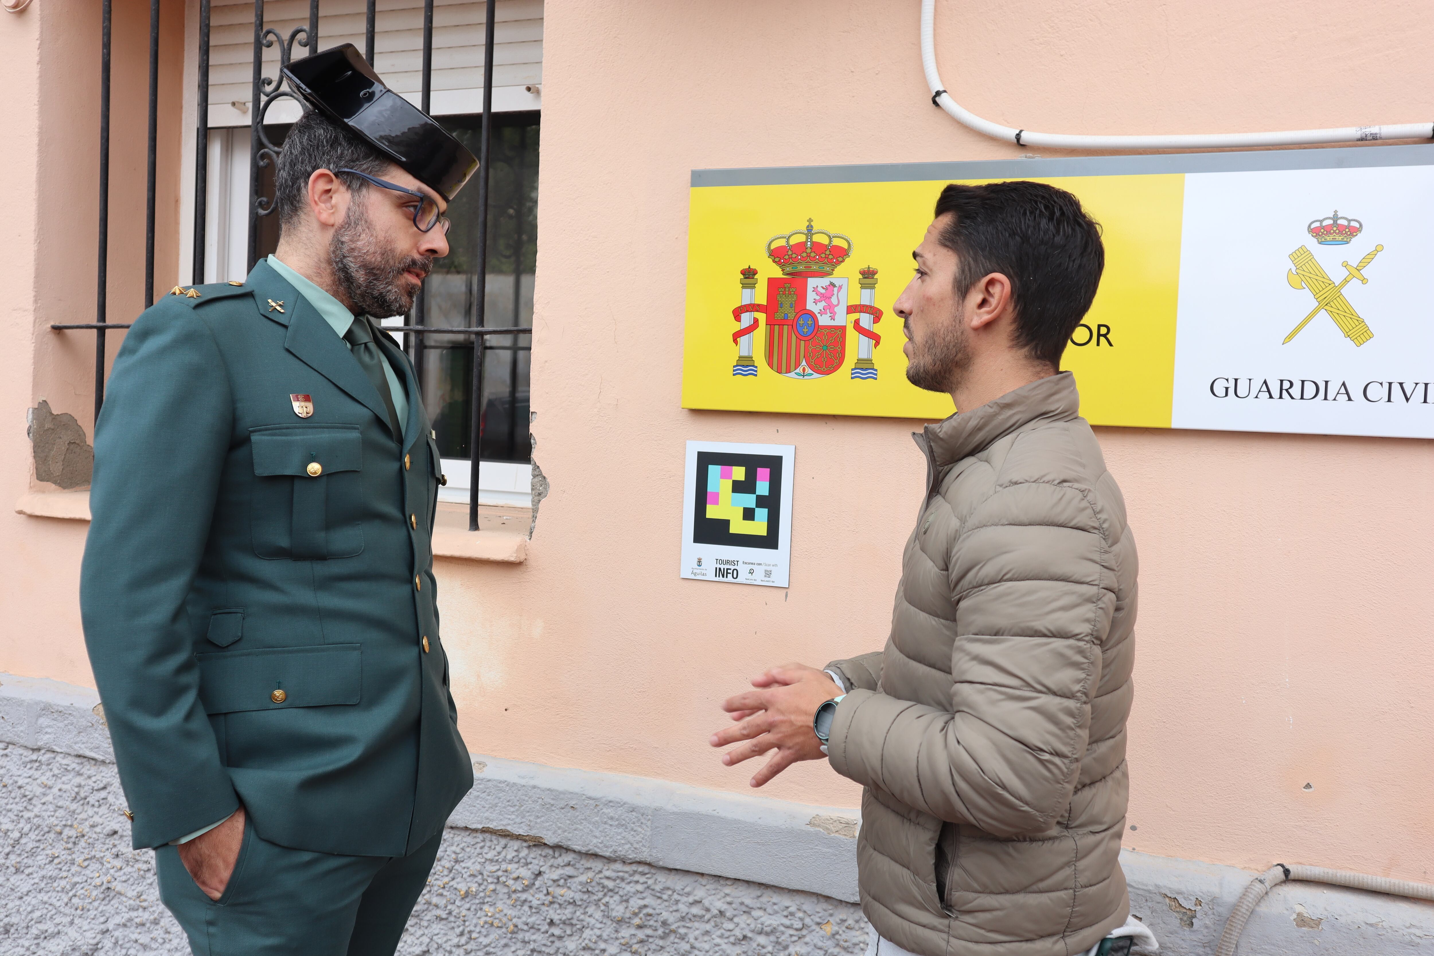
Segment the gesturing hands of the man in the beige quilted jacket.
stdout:
[[751,685],[759,689],[728,697],[721,705],[737,725],[717,731],[708,742],[726,747],[747,741],[723,754],[721,763],[731,767],[776,750],[751,778],[751,785],[760,787],[799,760],[822,760],[812,720],[816,708],[842,694],[832,677],[804,664],[786,664],[753,678]]

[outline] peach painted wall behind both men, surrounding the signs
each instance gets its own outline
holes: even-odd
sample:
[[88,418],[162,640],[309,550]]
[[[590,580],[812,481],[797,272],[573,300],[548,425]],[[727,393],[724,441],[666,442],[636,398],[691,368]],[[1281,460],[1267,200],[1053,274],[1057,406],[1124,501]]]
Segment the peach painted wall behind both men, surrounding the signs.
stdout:
[[[918,6],[548,0],[532,407],[552,493],[526,563],[437,569],[473,751],[741,791],[749,774],[706,745],[717,702],[769,664],[885,641],[921,423],[680,408],[687,185],[706,166],[1020,155],[931,106]],[[1434,7],[1395,0],[942,0],[936,42],[979,115],[1133,133],[1423,120],[1431,34]],[[33,62],[33,42],[17,49]],[[23,229],[4,235],[33,255]],[[0,268],[33,285],[33,264]],[[0,388],[0,482],[17,494],[29,397]],[[797,446],[789,591],[678,579],[688,439]],[[1143,570],[1126,844],[1434,879],[1430,443],[1100,439]],[[3,559],[0,669],[89,684],[76,529],[4,520],[19,543]],[[43,575],[20,592],[32,565]],[[819,764],[763,793],[858,801]]]

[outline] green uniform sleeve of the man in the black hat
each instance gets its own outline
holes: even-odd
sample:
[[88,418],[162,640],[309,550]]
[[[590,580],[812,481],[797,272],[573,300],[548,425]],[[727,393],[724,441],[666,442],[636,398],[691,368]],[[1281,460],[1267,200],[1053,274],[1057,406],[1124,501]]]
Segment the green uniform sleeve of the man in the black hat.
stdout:
[[198,625],[185,609],[231,426],[212,334],[188,305],[161,300],[135,322],[109,377],[80,570],[85,644],[136,849],[239,806],[199,702]]

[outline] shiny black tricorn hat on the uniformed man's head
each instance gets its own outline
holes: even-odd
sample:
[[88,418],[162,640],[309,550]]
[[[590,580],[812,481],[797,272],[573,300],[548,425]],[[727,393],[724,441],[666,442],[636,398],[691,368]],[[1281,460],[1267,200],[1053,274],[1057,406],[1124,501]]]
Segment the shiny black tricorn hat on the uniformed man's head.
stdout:
[[452,201],[478,169],[478,158],[384,86],[353,43],[294,60],[284,77],[304,103],[356,132],[445,199]]

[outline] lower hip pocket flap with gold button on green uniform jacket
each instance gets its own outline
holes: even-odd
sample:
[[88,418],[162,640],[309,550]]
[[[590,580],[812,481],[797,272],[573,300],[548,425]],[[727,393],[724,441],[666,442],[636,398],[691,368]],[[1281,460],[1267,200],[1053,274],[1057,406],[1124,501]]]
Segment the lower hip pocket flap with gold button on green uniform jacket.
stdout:
[[208,714],[358,702],[363,666],[357,644],[218,651],[195,659],[199,699]]

